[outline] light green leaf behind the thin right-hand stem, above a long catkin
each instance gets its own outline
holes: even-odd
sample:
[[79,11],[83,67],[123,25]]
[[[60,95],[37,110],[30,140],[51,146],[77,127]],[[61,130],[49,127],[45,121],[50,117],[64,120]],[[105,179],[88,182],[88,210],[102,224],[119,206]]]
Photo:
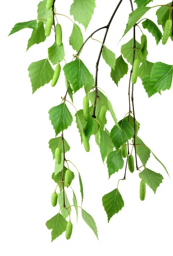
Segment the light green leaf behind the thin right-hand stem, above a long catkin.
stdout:
[[[140,57],[140,49],[141,49],[141,45],[136,41],[135,59],[139,58],[140,62],[142,62]],[[132,65],[133,64],[133,38],[130,41],[128,41],[128,43],[122,45],[121,53],[124,56],[124,58],[126,58],[127,61]]]

